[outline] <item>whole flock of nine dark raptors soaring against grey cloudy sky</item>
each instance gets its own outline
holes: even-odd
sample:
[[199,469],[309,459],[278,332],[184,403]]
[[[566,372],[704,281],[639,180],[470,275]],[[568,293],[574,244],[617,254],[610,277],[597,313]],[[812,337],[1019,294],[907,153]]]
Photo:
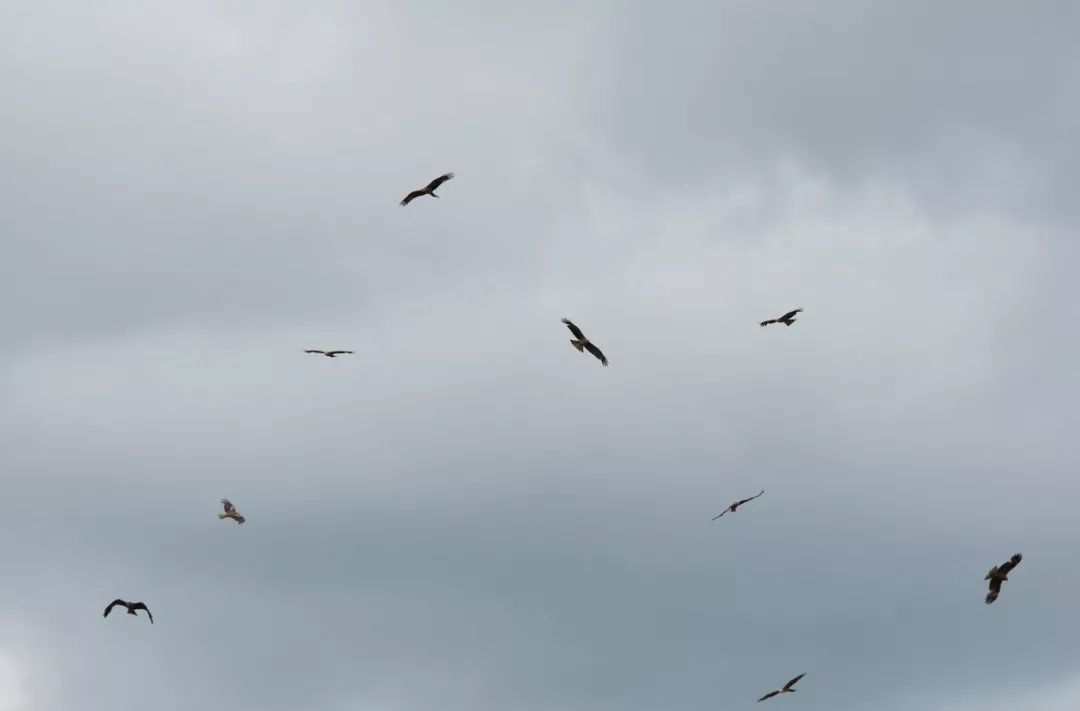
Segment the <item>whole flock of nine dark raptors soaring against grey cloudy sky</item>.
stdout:
[[[401,205],[405,206],[410,202],[413,202],[414,200],[416,200],[417,198],[422,198],[423,196],[437,198],[438,196],[435,194],[435,190],[444,183],[451,179],[453,177],[454,173],[444,173],[443,175],[440,175],[424,187],[419,188],[417,190],[413,190],[411,192],[406,194],[402,199]],[[779,318],[767,319],[765,321],[761,321],[760,325],[761,327],[765,327],[773,323],[783,323],[785,326],[789,326],[793,323],[795,323],[795,316],[801,311],[802,309],[793,309]],[[573,346],[579,352],[589,351],[593,357],[596,358],[596,360],[600,362],[602,365],[607,366],[608,359],[604,354],[604,351],[602,351],[592,340],[590,340],[585,336],[585,334],[581,331],[581,328],[575,325],[573,322],[571,322],[569,319],[563,319],[563,323],[566,324],[566,327],[570,330],[570,334],[573,335],[573,338],[570,339],[571,346]],[[338,356],[349,354],[352,353],[353,351],[320,350],[312,348],[312,349],[306,349],[303,352],[325,356],[326,358],[337,358]],[[762,488],[760,493],[756,494],[755,496],[733,501],[730,506],[728,506],[728,508],[724,509],[724,511],[713,517],[713,521],[716,521],[725,513],[734,513],[739,509],[739,507],[750,501],[753,501],[756,498],[759,498],[764,494],[765,489]],[[246,521],[246,519],[239,511],[237,511],[237,507],[233,506],[232,501],[230,501],[229,499],[221,499],[221,506],[224,510],[221,511],[221,513],[217,514],[218,519],[221,520],[231,519],[232,521],[235,521],[238,525]],[[986,577],[983,578],[984,580],[989,580],[989,591],[986,593],[986,601],[985,601],[987,605],[997,600],[998,595],[1001,594],[1001,583],[1009,579],[1009,574],[1012,572],[1013,568],[1015,568],[1020,564],[1021,560],[1023,560],[1023,555],[1016,553],[1001,565],[995,565],[993,568],[990,568],[990,572],[986,574]],[[108,604],[108,606],[105,608],[105,617],[108,617],[109,613],[111,613],[112,608],[116,607],[117,605],[124,607],[127,611],[129,615],[136,615],[136,613],[141,609],[146,612],[147,617],[150,619],[150,623],[151,625],[153,623],[153,615],[150,614],[150,608],[147,607],[145,603],[126,602],[120,599],[113,600]],[[781,688],[778,688],[773,692],[769,692],[768,694],[759,698],[758,701],[765,701],[771,699],[774,696],[780,696],[782,694],[794,694],[796,690],[795,684],[797,684],[798,681],[801,680],[804,676],[806,676],[806,672],[791,680],[789,682],[784,684]]]

